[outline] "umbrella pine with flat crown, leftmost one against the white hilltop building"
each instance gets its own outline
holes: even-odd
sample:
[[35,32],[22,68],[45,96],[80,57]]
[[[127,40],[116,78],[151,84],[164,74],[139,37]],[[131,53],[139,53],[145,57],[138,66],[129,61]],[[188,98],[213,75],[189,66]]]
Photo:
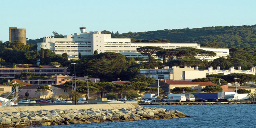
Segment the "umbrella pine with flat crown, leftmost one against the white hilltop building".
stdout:
[[137,48],[137,51],[141,53],[143,56],[148,56],[148,61],[154,61],[154,56],[156,52],[162,50],[160,47],[154,47],[154,46],[145,46]]

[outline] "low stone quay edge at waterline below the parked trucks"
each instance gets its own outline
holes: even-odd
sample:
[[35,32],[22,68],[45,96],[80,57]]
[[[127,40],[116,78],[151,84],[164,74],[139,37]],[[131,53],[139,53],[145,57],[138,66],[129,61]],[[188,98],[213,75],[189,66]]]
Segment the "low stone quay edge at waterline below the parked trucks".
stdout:
[[241,105],[256,104],[256,102],[138,102],[138,105]]

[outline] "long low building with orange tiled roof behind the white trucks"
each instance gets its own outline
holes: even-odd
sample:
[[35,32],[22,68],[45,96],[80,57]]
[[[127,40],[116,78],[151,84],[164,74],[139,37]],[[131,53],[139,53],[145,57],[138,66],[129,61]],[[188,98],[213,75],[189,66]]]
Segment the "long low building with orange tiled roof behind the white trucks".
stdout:
[[[159,80],[159,86],[162,90],[168,93],[176,87],[191,87],[194,89],[195,87],[199,86],[199,84],[189,80]],[[151,84],[150,87],[158,87],[158,82]]]

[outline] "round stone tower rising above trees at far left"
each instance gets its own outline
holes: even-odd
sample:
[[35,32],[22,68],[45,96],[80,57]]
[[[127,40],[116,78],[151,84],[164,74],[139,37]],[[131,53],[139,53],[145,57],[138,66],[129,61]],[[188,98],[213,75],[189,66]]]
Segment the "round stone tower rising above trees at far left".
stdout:
[[14,41],[27,45],[26,29],[11,29],[11,42]]

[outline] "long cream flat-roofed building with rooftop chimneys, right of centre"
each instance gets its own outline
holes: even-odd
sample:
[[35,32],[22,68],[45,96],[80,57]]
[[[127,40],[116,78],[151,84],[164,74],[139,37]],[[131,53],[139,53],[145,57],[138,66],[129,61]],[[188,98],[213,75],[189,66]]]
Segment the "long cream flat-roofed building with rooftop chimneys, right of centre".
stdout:
[[206,78],[206,75],[211,74],[220,74],[220,75],[228,75],[228,74],[252,74],[256,75],[256,68],[252,67],[250,70],[242,70],[241,67],[238,67],[238,69],[234,69],[234,67],[230,67],[228,70],[220,69],[217,67],[217,69],[212,69],[212,67],[209,67],[206,70],[198,69],[198,67],[187,67],[184,66],[184,68],[180,68],[179,66],[173,66],[172,68],[169,68],[169,66],[166,66],[162,69],[158,69],[158,67],[155,67],[155,69],[140,69],[139,75],[146,75],[150,77],[158,79],[165,79],[165,80],[193,80],[196,78]]

